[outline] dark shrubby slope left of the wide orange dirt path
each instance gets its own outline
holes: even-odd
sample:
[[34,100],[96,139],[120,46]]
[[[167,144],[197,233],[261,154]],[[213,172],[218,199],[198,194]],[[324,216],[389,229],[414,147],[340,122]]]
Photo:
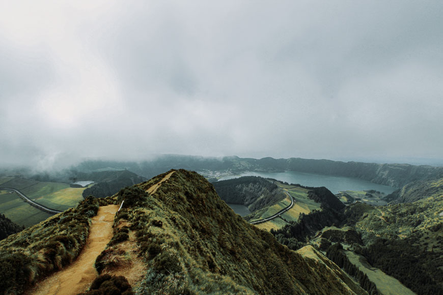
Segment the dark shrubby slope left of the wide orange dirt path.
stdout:
[[[88,198],[76,208],[1,241],[0,265],[5,267],[0,277],[9,278],[2,280],[1,289],[7,294],[20,293],[38,278],[71,263],[86,243],[90,218],[97,214],[98,206],[96,199]],[[16,266],[11,270],[7,265]]]

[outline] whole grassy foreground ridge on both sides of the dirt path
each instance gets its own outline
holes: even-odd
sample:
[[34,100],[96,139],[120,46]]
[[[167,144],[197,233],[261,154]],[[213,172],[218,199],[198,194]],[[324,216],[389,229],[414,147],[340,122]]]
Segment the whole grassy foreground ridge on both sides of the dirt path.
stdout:
[[[0,242],[4,293],[21,293],[30,282],[69,265],[85,245],[88,219],[98,206],[122,200],[123,209],[111,219],[114,237],[95,265],[109,275],[138,270],[139,276],[129,273],[137,293],[367,294],[312,246],[291,251],[246,223],[203,176],[186,170],[160,174],[113,197],[88,198]],[[108,278],[100,277],[94,288]]]

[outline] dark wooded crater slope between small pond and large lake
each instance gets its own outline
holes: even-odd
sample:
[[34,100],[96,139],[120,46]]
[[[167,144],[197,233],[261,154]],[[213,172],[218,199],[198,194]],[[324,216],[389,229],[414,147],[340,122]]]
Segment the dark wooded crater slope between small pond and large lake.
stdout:
[[286,197],[278,186],[258,176],[243,176],[214,182],[212,185],[222,200],[245,205],[251,212],[278,203]]

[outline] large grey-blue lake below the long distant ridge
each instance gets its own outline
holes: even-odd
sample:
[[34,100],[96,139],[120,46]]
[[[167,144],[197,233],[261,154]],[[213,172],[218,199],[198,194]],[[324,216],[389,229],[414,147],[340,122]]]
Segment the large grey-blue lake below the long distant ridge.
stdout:
[[220,180],[238,178],[240,176],[261,176],[263,178],[273,178],[279,181],[300,184],[308,187],[326,187],[328,190],[337,194],[339,191],[363,191],[376,190],[386,195],[394,192],[397,188],[375,184],[366,180],[350,178],[345,176],[330,176],[314,173],[305,173],[297,171],[286,172],[243,172],[241,175],[225,176]]

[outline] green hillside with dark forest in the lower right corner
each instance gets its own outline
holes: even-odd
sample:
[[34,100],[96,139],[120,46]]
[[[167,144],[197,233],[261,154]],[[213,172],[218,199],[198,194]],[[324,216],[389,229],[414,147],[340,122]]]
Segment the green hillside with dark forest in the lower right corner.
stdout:
[[356,253],[418,294],[443,294],[442,212],[437,194],[377,208],[351,205],[345,214],[354,215],[348,224],[366,245]]

